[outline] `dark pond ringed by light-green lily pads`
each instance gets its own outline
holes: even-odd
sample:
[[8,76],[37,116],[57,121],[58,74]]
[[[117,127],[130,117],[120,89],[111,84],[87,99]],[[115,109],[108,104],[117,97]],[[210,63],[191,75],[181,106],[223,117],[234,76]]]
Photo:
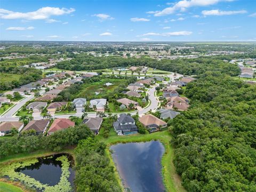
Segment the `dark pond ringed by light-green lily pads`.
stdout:
[[5,177],[19,180],[36,191],[74,191],[73,157],[57,154],[14,162],[3,168]]

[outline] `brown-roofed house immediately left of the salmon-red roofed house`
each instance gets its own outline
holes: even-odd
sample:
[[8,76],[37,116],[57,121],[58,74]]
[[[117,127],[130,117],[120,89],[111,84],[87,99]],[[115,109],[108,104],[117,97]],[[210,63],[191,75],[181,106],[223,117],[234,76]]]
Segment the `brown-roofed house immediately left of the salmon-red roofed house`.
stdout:
[[24,127],[21,132],[34,129],[37,134],[44,133],[49,124],[49,119],[32,120]]

